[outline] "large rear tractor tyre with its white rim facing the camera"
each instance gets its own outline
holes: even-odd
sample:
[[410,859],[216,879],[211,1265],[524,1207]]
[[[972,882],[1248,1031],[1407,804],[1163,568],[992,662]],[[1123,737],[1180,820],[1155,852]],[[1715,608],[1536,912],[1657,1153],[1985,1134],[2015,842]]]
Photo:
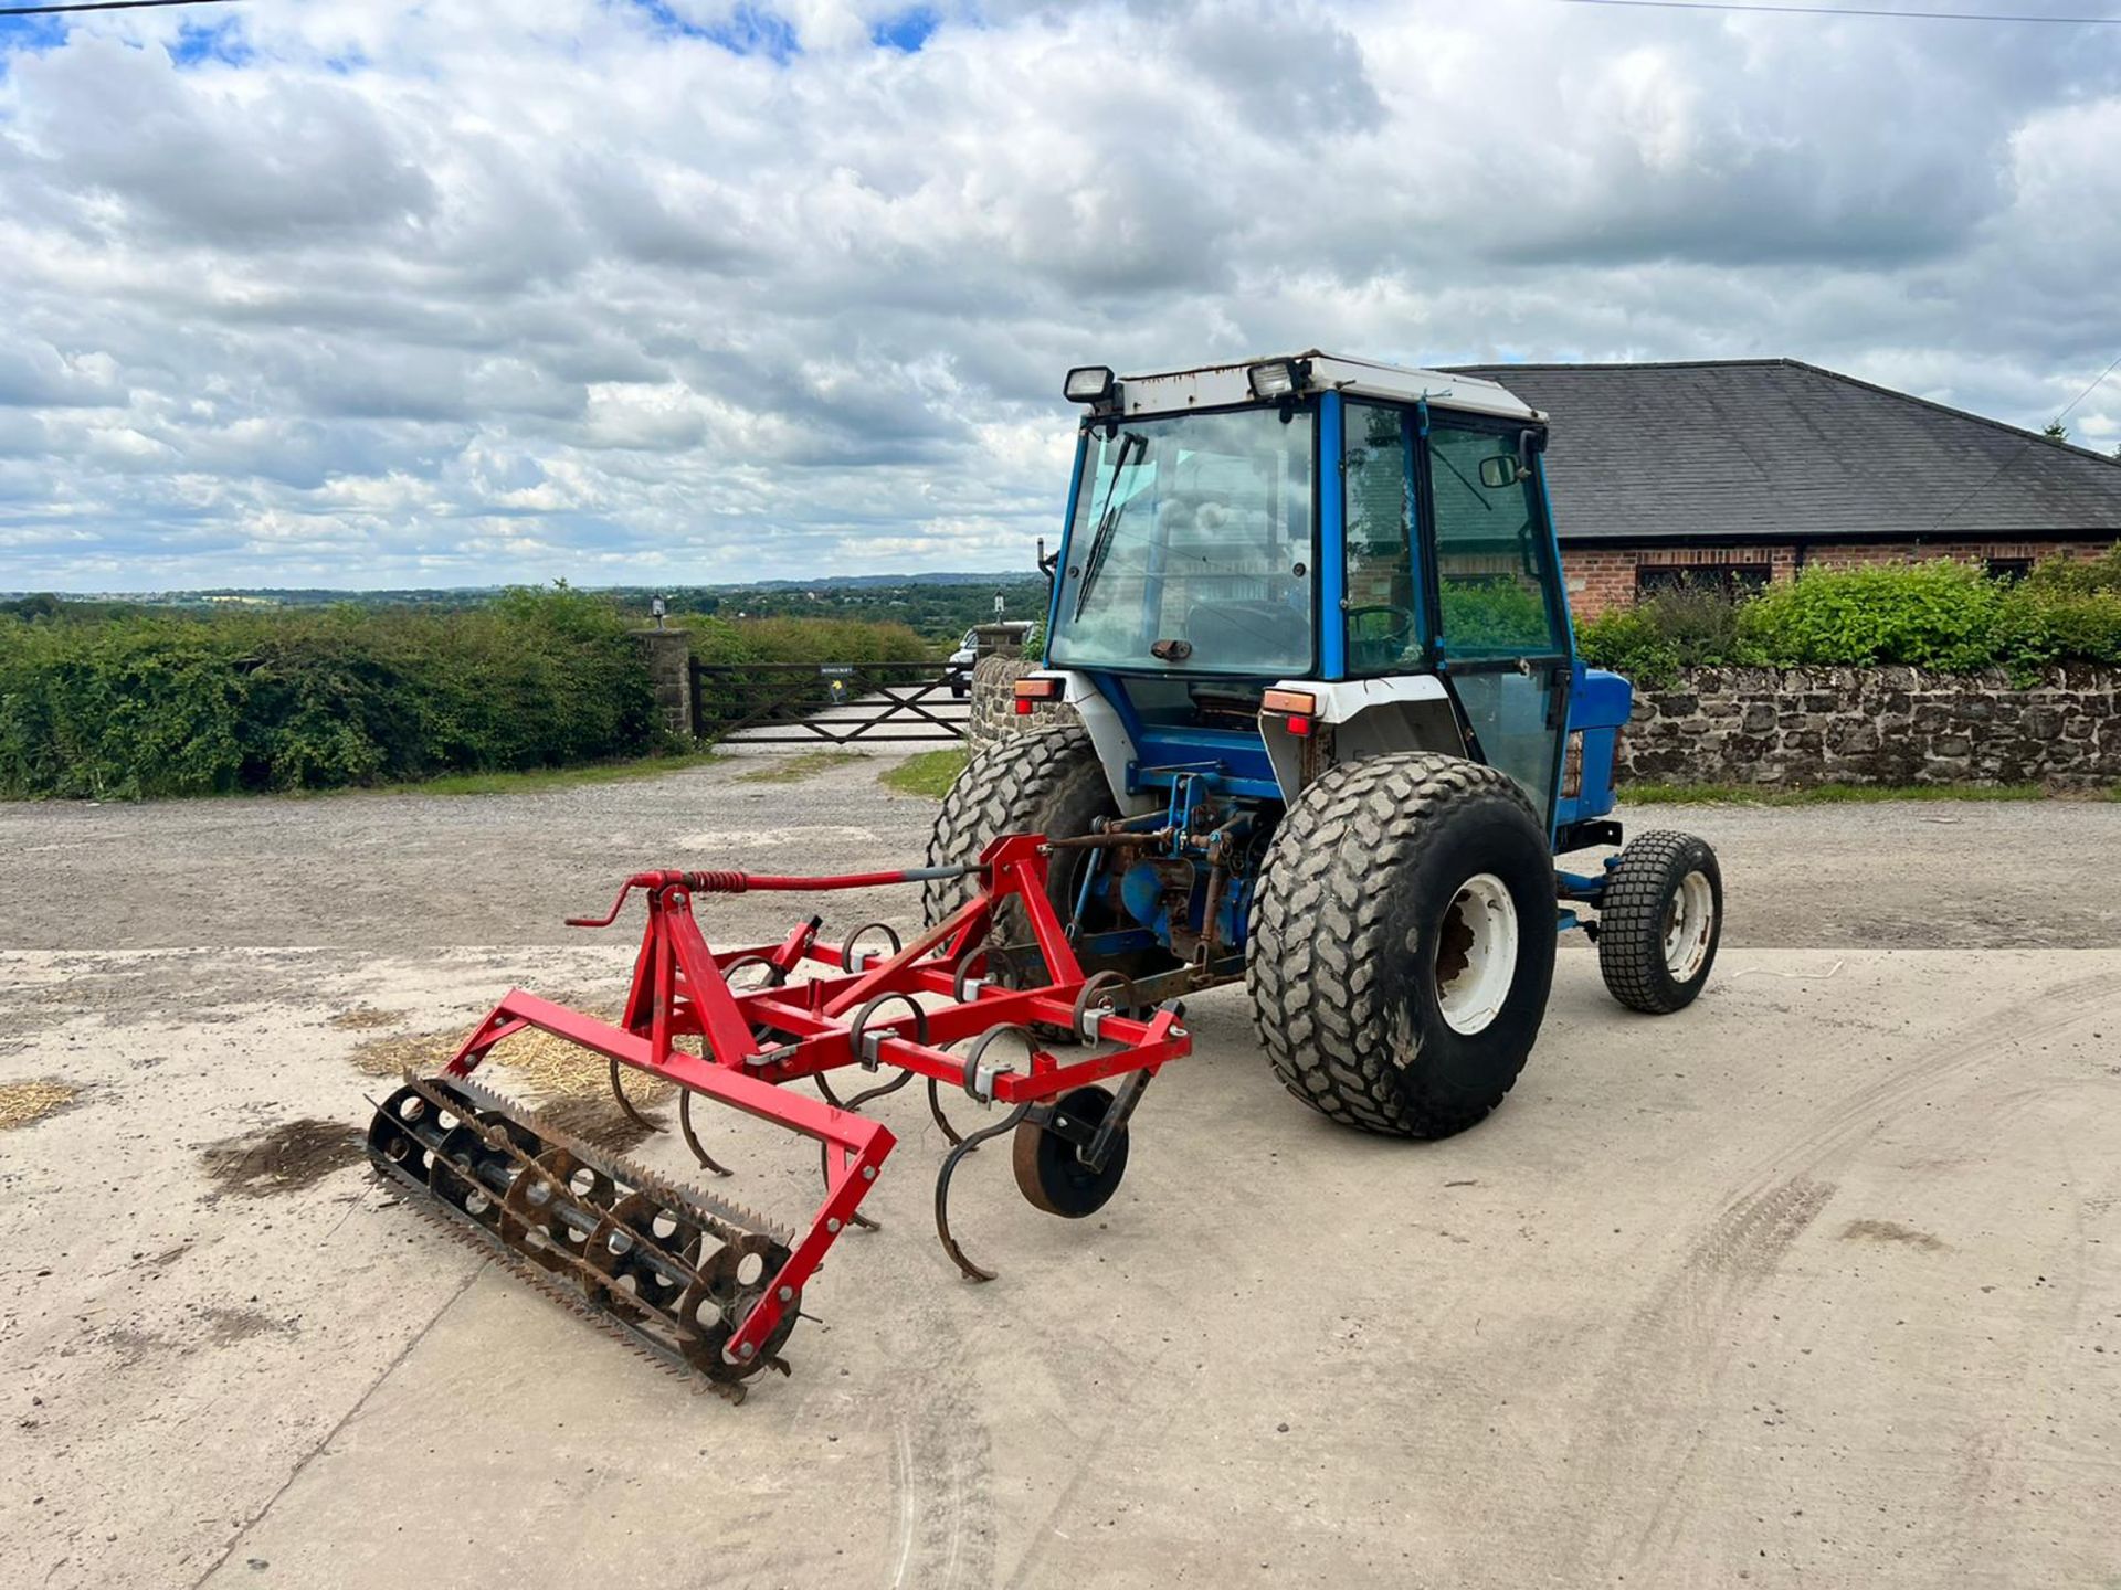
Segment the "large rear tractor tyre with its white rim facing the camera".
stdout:
[[1553,975],[1553,854],[1508,774],[1345,763],[1275,831],[1245,982],[1275,1075],[1321,1115],[1463,1132],[1523,1071]]

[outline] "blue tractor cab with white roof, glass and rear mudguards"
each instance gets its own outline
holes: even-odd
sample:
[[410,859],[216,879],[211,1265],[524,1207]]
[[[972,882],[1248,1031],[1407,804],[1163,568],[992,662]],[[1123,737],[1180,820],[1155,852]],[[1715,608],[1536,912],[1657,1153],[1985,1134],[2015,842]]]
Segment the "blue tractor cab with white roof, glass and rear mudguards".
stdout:
[[1317,352],[1075,369],[1067,394],[1086,413],[1058,678],[1027,687],[1084,708],[1128,810],[1203,765],[1287,801],[1391,750],[1502,767],[1557,837],[1610,810],[1627,685],[1574,657],[1546,416],[1495,382]]

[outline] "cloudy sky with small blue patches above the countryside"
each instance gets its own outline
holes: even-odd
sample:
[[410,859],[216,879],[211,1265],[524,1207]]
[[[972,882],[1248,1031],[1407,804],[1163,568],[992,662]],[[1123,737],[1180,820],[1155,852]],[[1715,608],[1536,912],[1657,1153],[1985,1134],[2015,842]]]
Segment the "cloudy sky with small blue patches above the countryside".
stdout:
[[[1788,354],[2038,426],[2121,354],[2121,28],[0,19],[0,589],[1024,568],[1067,365],[1304,346]],[[2070,428],[2121,443],[2121,373]]]

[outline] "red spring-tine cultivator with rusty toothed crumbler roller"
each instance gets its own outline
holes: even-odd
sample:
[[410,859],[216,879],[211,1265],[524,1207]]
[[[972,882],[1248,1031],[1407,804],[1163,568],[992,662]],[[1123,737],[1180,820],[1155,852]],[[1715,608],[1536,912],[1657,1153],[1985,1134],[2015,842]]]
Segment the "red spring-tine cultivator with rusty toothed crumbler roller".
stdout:
[[[390,1181],[418,1189],[426,1213],[545,1291],[660,1363],[740,1397],[759,1370],[787,1372],[781,1346],[804,1287],[848,1223],[870,1225],[859,1204],[895,1138],[861,1113],[863,1105],[916,1077],[927,1081],[929,1109],[950,1141],[935,1177],[935,1232],[974,1280],[993,1272],[952,1236],[948,1200],[959,1164],[982,1143],[1014,1132],[1016,1183],[1054,1215],[1090,1215],[1118,1187],[1135,1105],[1190,1039],[1175,1001],[1141,1013],[1126,977],[1084,975],[1046,895],[1046,854],[1037,835],[1007,835],[969,867],[834,878],[634,873],[602,918],[568,918],[571,926],[609,926],[630,895],[647,899],[619,1022],[511,990],[441,1075],[407,1075],[378,1107],[369,1153]],[[880,922],[838,946],[821,943],[823,922],[810,916],[778,943],[717,952],[691,914],[698,895],[933,878],[978,878],[978,888],[912,943]],[[993,943],[1003,907],[1029,941]],[[1037,967],[1046,982],[1029,984],[1024,967]],[[797,975],[804,969],[821,971]],[[526,1028],[604,1056],[619,1107],[645,1126],[653,1121],[626,1098],[621,1068],[674,1083],[685,1143],[715,1174],[730,1172],[698,1141],[694,1096],[814,1138],[825,1198],[808,1225],[791,1232],[668,1181],[469,1081],[496,1043]],[[1054,1035],[1084,1047],[1060,1060],[1046,1047]],[[698,1039],[700,1052],[679,1039]],[[827,1073],[848,1066],[897,1075],[842,1100]],[[821,1098],[789,1088],[804,1079]],[[1111,1079],[1124,1081],[1101,1085]],[[961,1134],[944,1113],[946,1090],[1007,1113]]]

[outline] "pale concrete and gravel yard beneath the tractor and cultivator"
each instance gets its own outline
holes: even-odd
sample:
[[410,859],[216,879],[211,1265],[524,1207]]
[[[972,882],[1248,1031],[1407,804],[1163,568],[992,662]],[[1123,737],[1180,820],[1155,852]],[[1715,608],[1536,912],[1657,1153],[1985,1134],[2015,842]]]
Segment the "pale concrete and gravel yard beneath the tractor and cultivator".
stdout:
[[[933,808],[831,778],[851,833],[802,865],[918,848]],[[933,1238],[940,1132],[887,1098],[884,1230],[840,1240],[793,1376],[732,1408],[418,1219],[358,1130],[384,1045],[509,984],[624,986],[636,918],[509,935],[522,903],[452,873],[435,825],[471,854],[513,835],[539,907],[583,907],[619,854],[740,865],[698,835],[829,827],[808,787],[768,793],[717,765],[579,803],[390,797],[395,850],[335,831],[361,799],[0,816],[0,1085],[81,1090],[0,1130],[6,1584],[2121,1586],[2121,933],[2096,859],[2121,808],[1659,812],[1726,854],[1710,992],[1631,1015],[1570,950],[1514,1094],[1447,1143],[1311,1115],[1243,990],[1198,996],[1105,1211],[1056,1221],[1005,1151],[965,1164],[984,1287]],[[2049,820],[2079,825],[2074,878]],[[87,888],[104,825],[140,912]],[[352,909],[282,899],[276,943],[204,893],[168,912],[157,869],[199,886],[178,835],[201,831],[248,859],[246,897],[310,856]],[[1920,914],[1894,835],[1977,835],[1981,867],[2013,831],[2076,948],[1875,948]],[[1877,888],[1803,895],[1833,848]],[[844,924],[878,903],[912,912],[876,895]],[[725,905],[717,937],[795,909]],[[808,1213],[804,1141],[706,1138],[736,1170],[715,1191]],[[704,1179],[674,1134],[632,1153]]]

